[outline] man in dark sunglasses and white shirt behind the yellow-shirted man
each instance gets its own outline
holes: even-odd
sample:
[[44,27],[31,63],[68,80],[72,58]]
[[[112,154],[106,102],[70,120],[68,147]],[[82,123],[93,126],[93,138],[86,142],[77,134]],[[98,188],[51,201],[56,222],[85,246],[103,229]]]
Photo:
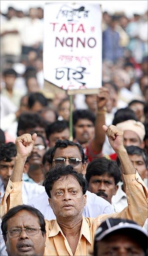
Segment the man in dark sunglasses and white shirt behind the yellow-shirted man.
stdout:
[[[74,166],[78,173],[85,175],[86,162],[82,146],[69,140],[57,141],[50,152],[48,158],[50,168],[56,164],[64,164]],[[96,194],[86,191],[87,203],[85,205],[83,215],[85,217],[97,217],[100,214],[110,214],[114,212],[112,205]],[[48,195],[44,191],[37,197],[32,197],[28,202],[29,205],[37,208],[46,219],[56,219],[55,214],[48,202]]]

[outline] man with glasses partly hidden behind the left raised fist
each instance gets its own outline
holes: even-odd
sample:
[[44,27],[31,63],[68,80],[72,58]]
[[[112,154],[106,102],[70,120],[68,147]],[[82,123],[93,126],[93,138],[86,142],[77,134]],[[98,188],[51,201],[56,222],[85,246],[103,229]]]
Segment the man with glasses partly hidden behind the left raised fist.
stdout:
[[29,170],[23,174],[23,180],[30,183],[38,183],[42,185],[44,182],[43,156],[46,152],[47,144],[45,138],[41,134],[37,134],[33,150],[29,156]]

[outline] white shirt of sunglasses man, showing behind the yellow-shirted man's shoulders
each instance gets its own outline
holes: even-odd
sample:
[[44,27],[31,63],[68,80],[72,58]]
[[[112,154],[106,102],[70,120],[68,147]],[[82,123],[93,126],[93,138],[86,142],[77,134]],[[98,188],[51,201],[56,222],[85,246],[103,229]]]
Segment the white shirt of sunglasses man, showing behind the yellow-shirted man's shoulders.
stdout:
[[[100,214],[114,213],[112,205],[102,197],[98,197],[96,194],[86,191],[87,199],[86,205],[83,211],[84,217],[98,217]],[[44,191],[38,197],[33,197],[28,205],[37,208],[44,215],[45,219],[56,219],[55,214],[48,202],[48,195]]]

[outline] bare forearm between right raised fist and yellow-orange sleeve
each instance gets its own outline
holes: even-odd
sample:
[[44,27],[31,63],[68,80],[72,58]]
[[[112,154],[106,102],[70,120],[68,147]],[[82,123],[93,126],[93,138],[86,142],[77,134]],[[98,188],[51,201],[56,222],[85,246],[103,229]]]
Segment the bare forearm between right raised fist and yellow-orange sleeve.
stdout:
[[131,160],[129,159],[126,149],[125,148],[120,149],[116,153],[120,160],[121,167],[123,169],[123,173],[124,174],[135,174],[136,170],[135,170],[134,166],[132,165]]

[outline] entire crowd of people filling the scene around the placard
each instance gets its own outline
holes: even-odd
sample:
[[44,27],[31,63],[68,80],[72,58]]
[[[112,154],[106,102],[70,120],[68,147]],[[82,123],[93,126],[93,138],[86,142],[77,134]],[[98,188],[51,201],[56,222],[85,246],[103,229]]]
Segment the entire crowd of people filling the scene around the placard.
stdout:
[[[102,14],[102,87],[45,90],[44,10],[0,14],[1,256],[148,253],[148,11]],[[92,81],[92,84],[95,81]]]

